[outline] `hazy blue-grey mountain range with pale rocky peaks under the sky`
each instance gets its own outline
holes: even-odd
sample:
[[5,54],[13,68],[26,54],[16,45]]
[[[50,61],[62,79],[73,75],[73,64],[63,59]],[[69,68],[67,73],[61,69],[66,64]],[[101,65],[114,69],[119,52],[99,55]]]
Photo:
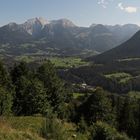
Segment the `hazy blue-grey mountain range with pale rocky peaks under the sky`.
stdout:
[[122,44],[138,30],[135,24],[79,27],[68,19],[33,18],[0,27],[0,54],[98,54]]

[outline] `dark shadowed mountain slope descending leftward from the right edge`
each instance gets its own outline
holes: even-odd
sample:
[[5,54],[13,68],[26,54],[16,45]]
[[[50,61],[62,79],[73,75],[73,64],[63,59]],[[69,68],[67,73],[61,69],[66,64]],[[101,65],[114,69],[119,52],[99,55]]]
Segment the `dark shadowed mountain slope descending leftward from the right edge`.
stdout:
[[122,61],[123,59],[130,60],[138,58],[140,58],[140,31],[120,46],[98,56],[90,57],[89,60],[96,62],[109,62],[114,60]]

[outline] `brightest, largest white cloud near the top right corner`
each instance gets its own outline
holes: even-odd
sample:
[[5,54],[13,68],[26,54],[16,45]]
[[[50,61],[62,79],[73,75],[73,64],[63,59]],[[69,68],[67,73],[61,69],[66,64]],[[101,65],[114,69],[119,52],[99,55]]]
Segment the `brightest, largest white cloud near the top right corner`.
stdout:
[[125,12],[127,12],[127,13],[136,13],[137,10],[138,10],[138,8],[137,8],[137,7],[134,7],[134,6],[127,6],[127,7],[125,7],[125,6],[123,6],[122,3],[119,3],[119,4],[118,4],[118,7],[119,7],[121,10],[123,10],[123,11],[125,11]]

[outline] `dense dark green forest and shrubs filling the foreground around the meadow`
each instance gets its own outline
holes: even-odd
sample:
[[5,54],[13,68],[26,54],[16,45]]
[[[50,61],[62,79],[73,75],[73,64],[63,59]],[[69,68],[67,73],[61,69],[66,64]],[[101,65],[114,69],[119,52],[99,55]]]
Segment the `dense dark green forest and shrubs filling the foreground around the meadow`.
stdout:
[[[1,118],[41,116],[46,123],[40,135],[47,140],[140,139],[139,96],[95,86],[74,98],[75,88],[59,76],[50,61],[35,68],[25,62],[11,67],[1,62]],[[66,123],[74,126],[71,133]]]

